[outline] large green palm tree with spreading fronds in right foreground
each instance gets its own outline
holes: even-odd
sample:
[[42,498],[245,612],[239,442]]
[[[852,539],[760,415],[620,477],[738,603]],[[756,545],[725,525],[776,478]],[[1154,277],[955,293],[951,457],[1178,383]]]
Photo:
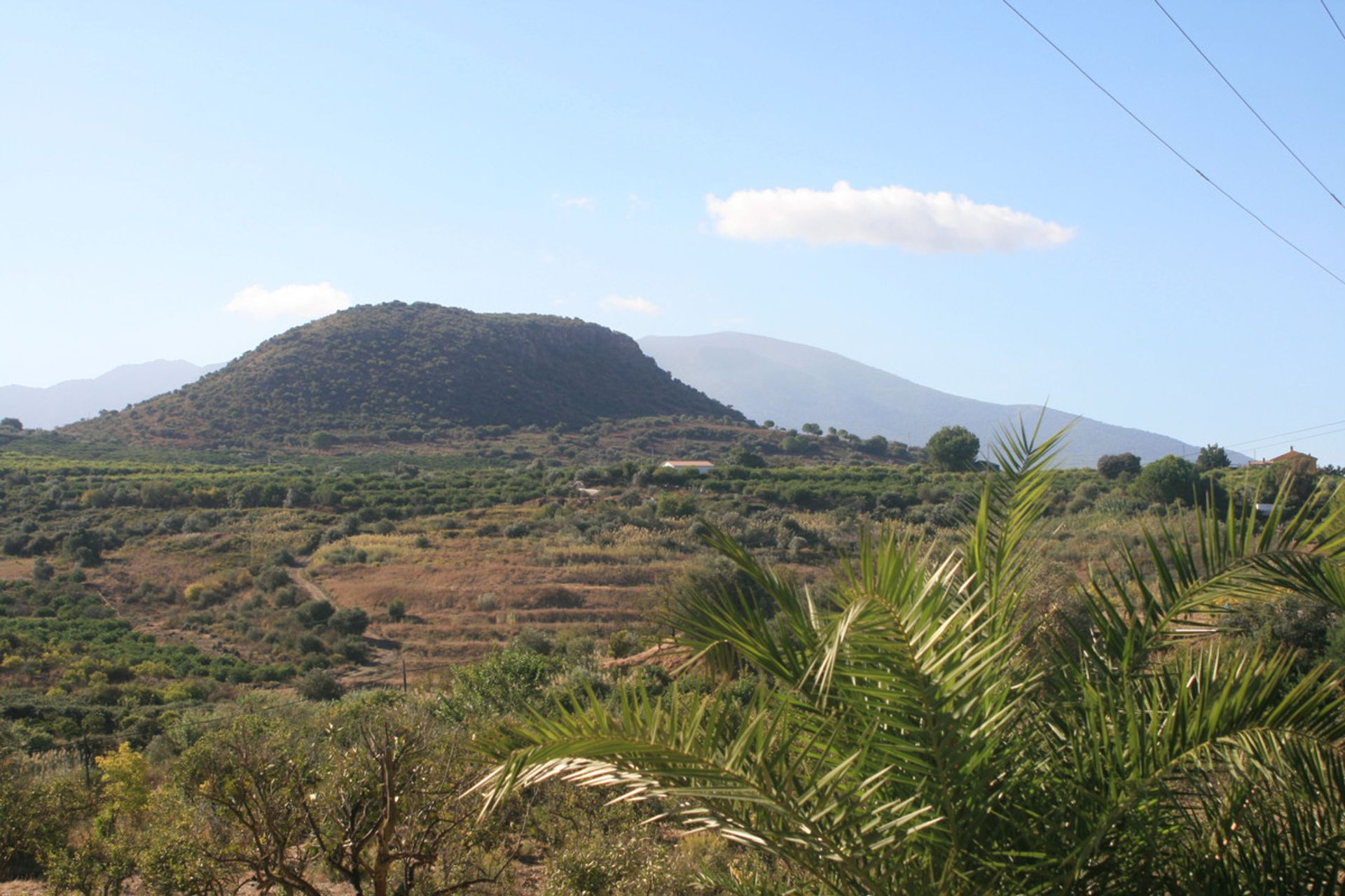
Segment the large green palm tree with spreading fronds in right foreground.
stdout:
[[631,685],[539,715],[486,810],[547,779],[613,787],[830,893],[1340,892],[1340,672],[1220,635],[1237,602],[1345,609],[1345,513],[1163,524],[1079,586],[1087,623],[1042,654],[1022,594],[1061,435],[1001,438],[962,549],[865,537],[826,594],[712,531],[773,606],[701,592],[671,622],[768,684],[745,708]]

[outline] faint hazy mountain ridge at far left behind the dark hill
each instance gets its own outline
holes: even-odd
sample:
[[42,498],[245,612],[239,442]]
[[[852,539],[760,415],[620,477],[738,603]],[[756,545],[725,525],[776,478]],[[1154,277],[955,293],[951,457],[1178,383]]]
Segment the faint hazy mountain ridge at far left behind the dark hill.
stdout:
[[16,416],[30,430],[48,430],[117,410],[198,380],[222,364],[200,367],[191,361],[122,364],[102,376],[66,380],[39,388],[0,386],[0,416]]

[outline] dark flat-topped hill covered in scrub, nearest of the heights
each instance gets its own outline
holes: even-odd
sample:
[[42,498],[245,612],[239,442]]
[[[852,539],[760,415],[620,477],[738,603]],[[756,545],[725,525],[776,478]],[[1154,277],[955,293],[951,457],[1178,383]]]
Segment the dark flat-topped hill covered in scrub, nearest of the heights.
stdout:
[[198,446],[313,433],[418,442],[461,426],[652,415],[741,419],[596,324],[389,302],[296,326],[176,392],[65,431]]

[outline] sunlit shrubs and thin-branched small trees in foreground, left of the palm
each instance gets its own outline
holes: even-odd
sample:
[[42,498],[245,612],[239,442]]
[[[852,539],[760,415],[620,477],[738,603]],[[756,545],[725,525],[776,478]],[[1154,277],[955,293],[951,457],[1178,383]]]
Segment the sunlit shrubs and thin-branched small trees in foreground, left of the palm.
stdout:
[[312,896],[332,884],[371,895],[785,888],[777,862],[675,837],[647,823],[648,807],[570,789],[482,817],[475,744],[564,669],[506,652],[444,693],[250,699],[182,713],[148,747],[109,746],[86,770],[0,739],[0,880],[40,876],[55,892],[102,896],[132,880],[156,893],[252,883]]

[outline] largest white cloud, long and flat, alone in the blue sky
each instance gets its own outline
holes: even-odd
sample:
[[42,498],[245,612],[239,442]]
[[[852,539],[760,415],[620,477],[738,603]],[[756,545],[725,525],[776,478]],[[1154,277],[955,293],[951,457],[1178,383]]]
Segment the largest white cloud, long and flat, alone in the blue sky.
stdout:
[[756,242],[802,239],[812,244],[900,246],[913,253],[985,253],[1057,246],[1075,236],[1072,227],[966,196],[897,185],[854,189],[843,180],[830,191],[740,189],[728,199],[709,195],[705,207],[722,236]]

